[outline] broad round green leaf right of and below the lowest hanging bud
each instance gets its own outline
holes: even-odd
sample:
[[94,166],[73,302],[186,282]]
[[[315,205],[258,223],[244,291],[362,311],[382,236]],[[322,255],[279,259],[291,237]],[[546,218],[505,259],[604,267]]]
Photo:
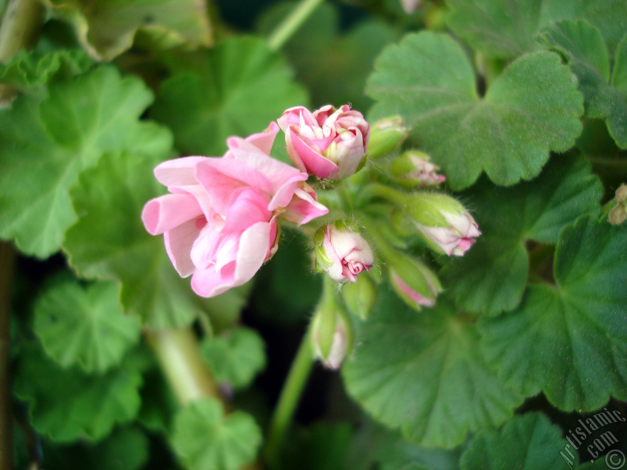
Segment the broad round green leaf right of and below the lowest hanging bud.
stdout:
[[522,397],[483,359],[472,321],[455,316],[446,298],[418,313],[389,291],[381,294],[344,367],[349,394],[367,412],[429,447],[456,446],[469,431],[512,415]]

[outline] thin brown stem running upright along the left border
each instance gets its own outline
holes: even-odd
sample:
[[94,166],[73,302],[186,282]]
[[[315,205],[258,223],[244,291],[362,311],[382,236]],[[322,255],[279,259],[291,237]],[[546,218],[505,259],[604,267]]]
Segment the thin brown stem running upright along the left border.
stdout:
[[13,468],[13,414],[11,413],[11,285],[15,251],[0,242],[0,468]]

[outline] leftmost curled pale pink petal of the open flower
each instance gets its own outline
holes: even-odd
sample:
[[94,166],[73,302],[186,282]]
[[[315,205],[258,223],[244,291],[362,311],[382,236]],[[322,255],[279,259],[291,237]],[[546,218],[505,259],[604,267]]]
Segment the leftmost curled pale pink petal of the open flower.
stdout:
[[145,204],[142,220],[149,234],[159,235],[201,214],[203,210],[191,194],[166,194]]

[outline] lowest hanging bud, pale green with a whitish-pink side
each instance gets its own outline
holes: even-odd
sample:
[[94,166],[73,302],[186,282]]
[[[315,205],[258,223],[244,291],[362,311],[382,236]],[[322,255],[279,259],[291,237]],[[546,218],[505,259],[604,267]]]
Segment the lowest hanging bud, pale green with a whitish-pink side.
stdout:
[[353,346],[352,326],[346,311],[331,289],[325,288],[322,303],[312,320],[314,351],[324,365],[337,370]]

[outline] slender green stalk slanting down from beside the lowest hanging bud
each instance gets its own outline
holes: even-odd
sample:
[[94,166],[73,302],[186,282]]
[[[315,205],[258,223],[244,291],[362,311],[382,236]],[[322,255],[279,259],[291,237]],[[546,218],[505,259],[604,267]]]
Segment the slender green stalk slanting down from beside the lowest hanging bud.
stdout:
[[265,447],[265,460],[272,468],[276,466],[285,433],[288,431],[300,395],[302,395],[307,379],[314,365],[314,351],[310,330],[303,336],[296,357],[292,362],[292,368],[288,373],[285,385],[278,399],[277,407],[270,422],[270,431]]

